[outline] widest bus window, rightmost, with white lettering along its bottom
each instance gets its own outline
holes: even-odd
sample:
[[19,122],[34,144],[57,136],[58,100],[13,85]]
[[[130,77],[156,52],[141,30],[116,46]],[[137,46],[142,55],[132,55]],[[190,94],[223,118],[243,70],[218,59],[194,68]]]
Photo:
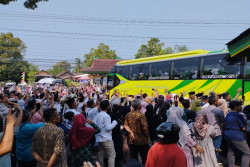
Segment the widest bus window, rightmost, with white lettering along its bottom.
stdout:
[[240,78],[241,58],[229,54],[213,55],[203,58],[201,78]]

